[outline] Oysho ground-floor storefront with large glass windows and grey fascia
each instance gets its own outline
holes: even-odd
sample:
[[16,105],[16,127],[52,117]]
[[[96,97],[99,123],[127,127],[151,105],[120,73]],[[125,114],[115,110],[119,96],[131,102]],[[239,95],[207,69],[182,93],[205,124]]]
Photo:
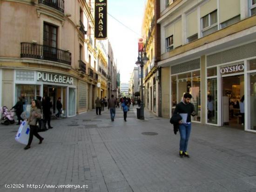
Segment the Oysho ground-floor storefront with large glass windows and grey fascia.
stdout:
[[192,121],[256,132],[255,48],[256,42],[170,66],[171,114],[189,92]]

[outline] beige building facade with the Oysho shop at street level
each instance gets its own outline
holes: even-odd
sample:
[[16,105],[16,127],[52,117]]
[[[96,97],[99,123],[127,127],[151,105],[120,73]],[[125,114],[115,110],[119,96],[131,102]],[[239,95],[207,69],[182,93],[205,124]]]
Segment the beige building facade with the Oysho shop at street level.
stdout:
[[161,0],[157,23],[163,116],[189,92],[193,121],[256,132],[256,1]]

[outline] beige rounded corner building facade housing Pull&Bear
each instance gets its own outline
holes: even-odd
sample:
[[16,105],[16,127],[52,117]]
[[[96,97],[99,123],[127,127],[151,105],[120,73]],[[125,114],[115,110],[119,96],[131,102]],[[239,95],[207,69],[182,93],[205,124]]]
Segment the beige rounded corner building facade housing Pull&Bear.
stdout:
[[[64,116],[94,108],[97,51],[91,0],[0,1],[0,106],[47,95]],[[17,11],[19,10],[19,11]],[[15,12],[15,14],[14,14]]]

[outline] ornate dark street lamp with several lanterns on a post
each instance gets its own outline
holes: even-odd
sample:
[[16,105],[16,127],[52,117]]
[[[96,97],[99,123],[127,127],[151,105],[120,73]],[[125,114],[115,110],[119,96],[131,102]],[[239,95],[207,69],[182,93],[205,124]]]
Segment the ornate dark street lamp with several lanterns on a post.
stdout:
[[[144,55],[143,55],[144,54]],[[143,55],[143,57],[142,57]],[[145,47],[138,51],[138,60],[135,64],[141,67],[141,120],[144,120],[144,93],[143,93],[143,66],[148,62],[147,53]]]

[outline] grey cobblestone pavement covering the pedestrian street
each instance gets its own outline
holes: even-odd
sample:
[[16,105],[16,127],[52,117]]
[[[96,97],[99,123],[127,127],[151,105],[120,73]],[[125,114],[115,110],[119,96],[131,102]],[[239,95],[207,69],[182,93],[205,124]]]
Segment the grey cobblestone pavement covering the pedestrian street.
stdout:
[[169,119],[138,120],[135,107],[122,118],[118,108],[114,122],[107,109],[52,120],[26,151],[17,126],[0,126],[0,192],[256,192],[256,134],[194,123],[181,159]]

